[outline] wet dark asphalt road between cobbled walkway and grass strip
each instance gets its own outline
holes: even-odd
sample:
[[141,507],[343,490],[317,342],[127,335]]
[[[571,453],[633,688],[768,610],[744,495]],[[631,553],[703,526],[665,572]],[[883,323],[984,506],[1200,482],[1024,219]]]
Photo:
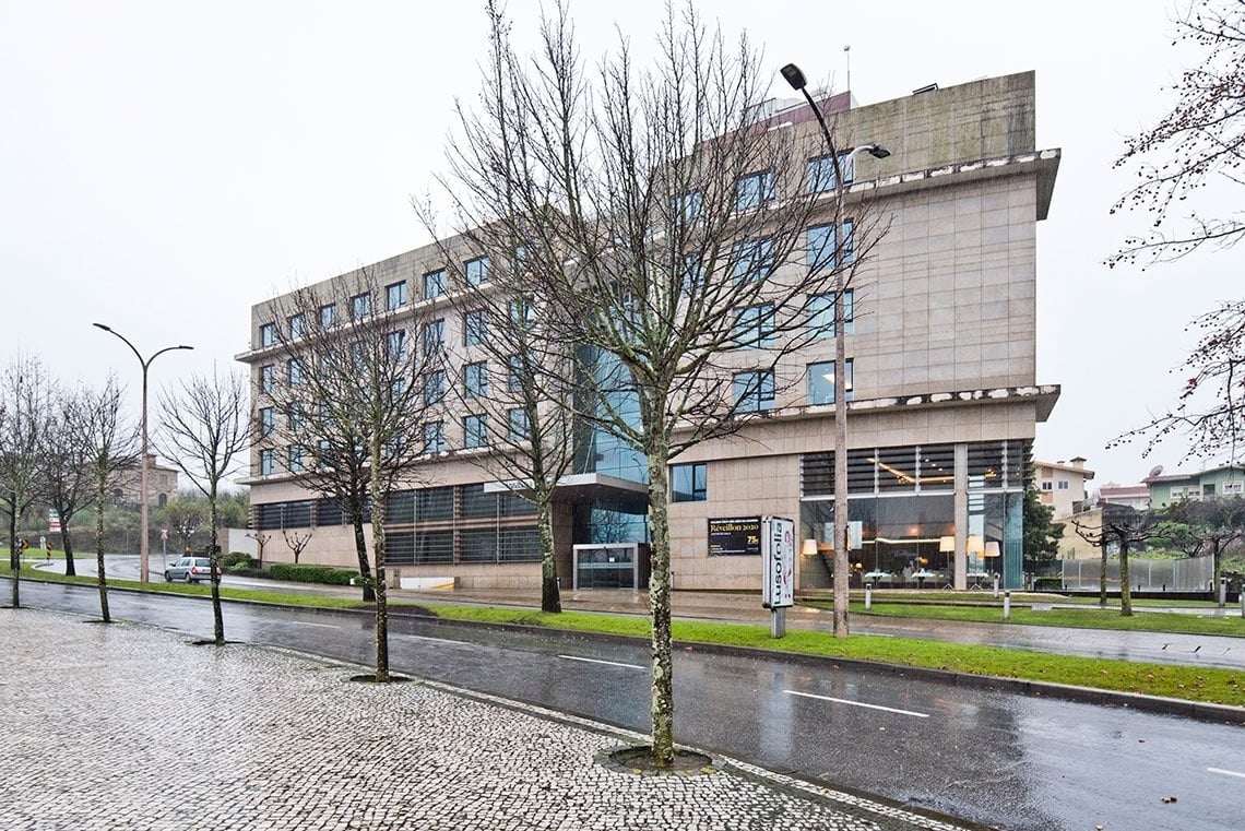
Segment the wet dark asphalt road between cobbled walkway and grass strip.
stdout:
[[[22,598],[98,615],[90,588],[26,582]],[[110,605],[118,618],[212,631],[199,598],[115,591]],[[225,633],[361,664],[374,657],[366,615],[229,603]],[[390,649],[396,672],[647,730],[642,643],[395,616]],[[675,680],[681,743],[987,826],[1243,827],[1245,733],[1235,725],[695,649],[679,653]]]

